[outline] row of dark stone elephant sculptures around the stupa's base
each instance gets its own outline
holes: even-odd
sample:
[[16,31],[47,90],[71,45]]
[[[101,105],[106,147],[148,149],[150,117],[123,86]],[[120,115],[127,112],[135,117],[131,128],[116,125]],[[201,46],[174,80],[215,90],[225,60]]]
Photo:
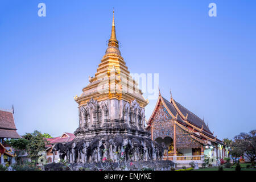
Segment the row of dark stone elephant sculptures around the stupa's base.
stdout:
[[55,151],[59,152],[60,159],[69,163],[102,162],[104,159],[117,161],[147,161],[162,160],[164,143],[159,144],[147,138],[136,136],[114,136],[104,139],[78,140],[65,144],[57,143],[52,148],[53,159]]

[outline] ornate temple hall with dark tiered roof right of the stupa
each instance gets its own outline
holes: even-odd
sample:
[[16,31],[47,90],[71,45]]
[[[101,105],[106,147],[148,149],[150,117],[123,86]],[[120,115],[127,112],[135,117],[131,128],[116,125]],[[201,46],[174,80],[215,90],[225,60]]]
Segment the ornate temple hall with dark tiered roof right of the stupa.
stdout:
[[176,167],[188,166],[192,161],[201,166],[205,155],[214,159],[214,165],[228,156],[227,146],[214,137],[204,120],[176,102],[172,94],[169,101],[163,98],[160,90],[146,129],[152,140],[166,144],[163,158],[175,162]]

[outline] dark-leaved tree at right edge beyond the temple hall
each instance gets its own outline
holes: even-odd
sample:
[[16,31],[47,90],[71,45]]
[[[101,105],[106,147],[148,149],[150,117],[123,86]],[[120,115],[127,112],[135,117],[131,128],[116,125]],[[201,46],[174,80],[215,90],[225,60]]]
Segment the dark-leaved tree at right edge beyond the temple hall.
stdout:
[[233,156],[245,155],[251,163],[254,163],[256,159],[256,130],[251,130],[249,133],[240,133],[234,137],[231,148]]

